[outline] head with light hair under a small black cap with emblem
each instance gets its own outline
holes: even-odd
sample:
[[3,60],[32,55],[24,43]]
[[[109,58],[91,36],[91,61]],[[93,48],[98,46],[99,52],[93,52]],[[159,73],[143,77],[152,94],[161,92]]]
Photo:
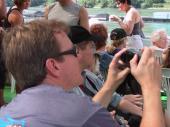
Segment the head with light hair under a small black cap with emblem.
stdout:
[[110,33],[111,44],[106,46],[108,52],[113,52],[114,49],[123,49],[126,47],[127,34],[122,28],[113,29]]

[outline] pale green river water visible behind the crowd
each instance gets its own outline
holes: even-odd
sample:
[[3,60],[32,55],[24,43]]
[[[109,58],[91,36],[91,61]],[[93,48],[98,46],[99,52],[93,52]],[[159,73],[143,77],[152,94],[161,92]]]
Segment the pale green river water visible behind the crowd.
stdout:
[[[27,14],[31,12],[36,11],[42,11],[44,12],[44,6],[37,6],[37,7],[30,7],[27,11],[25,11]],[[125,13],[120,12],[118,9],[115,8],[88,8],[87,9],[89,15],[95,15],[100,13],[108,13],[108,14],[114,14],[118,16],[124,16]],[[155,9],[140,9],[139,12],[142,16],[150,16],[152,17],[155,12],[168,12],[169,10],[155,10]],[[34,17],[35,18],[35,17]],[[30,17],[26,17],[27,21],[31,21],[32,19]],[[110,32],[112,29],[119,27],[119,25],[115,22],[109,22],[109,21],[103,21],[108,26],[108,32]],[[145,36],[150,36],[151,33],[157,29],[165,29],[170,36],[170,22],[169,23],[158,23],[158,22],[145,22],[145,26],[143,28],[143,32]]]

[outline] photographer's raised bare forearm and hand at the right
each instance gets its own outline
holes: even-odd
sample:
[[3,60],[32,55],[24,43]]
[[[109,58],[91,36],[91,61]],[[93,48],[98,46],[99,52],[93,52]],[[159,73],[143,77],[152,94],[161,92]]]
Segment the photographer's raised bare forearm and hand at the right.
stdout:
[[144,98],[143,117],[140,127],[165,127],[160,100],[161,69],[149,48],[144,48],[137,64],[137,55],[130,61],[131,73],[139,82]]

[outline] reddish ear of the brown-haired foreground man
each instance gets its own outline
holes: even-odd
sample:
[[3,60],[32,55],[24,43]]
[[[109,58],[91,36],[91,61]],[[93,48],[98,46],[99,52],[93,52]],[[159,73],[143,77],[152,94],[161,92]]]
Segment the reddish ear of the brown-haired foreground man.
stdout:
[[55,77],[59,76],[60,66],[55,59],[49,58],[46,60],[45,67],[47,73]]

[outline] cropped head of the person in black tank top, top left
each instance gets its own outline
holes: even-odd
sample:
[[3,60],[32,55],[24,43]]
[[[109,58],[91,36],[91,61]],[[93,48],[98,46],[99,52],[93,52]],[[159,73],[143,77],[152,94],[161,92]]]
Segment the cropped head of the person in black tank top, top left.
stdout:
[[13,2],[21,9],[27,9],[31,4],[31,0],[13,0]]

